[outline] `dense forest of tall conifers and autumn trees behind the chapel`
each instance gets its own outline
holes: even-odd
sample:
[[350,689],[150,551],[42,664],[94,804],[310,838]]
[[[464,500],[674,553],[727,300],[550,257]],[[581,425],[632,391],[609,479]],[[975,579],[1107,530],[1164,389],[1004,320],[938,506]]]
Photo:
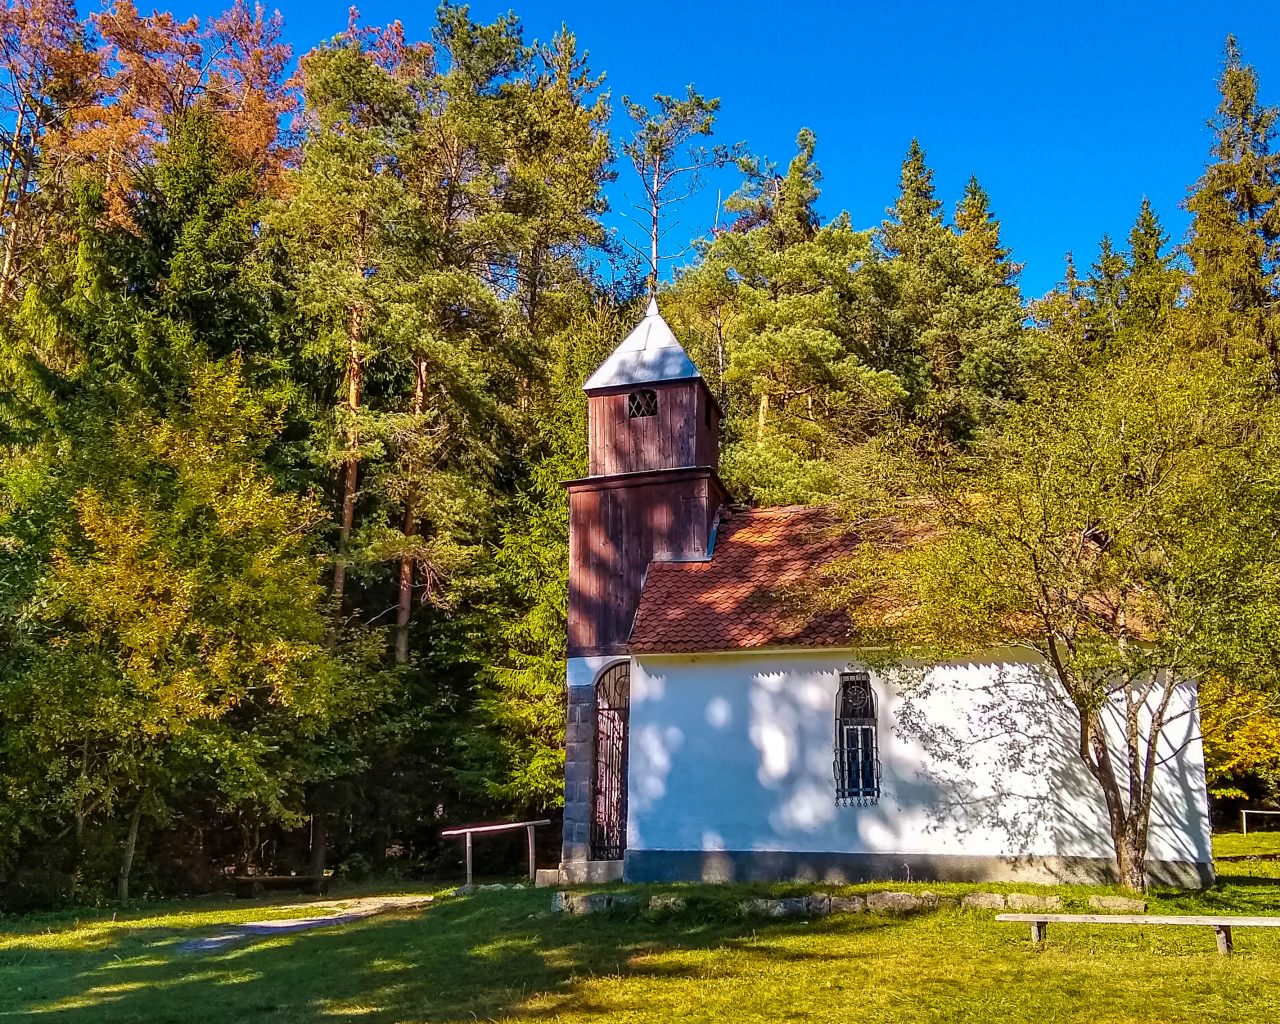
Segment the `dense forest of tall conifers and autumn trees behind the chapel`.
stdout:
[[[556,812],[581,384],[659,287],[648,241],[604,227],[614,175],[659,256],[681,196],[736,175],[659,301],[737,500],[865,521],[1037,444],[1085,479],[1098,452],[1050,413],[1121,436],[1151,413],[1194,428],[1166,524],[1192,536],[1188,502],[1225,493],[1203,467],[1274,451],[1280,380],[1277,113],[1234,40],[1217,84],[1185,237],[1144,201],[1028,301],[982,184],[938,196],[918,142],[887,211],[824,219],[810,131],[773,163],[691,86],[612,96],[567,29],[444,5],[415,41],[353,14],[296,59],[244,3],[5,0],[4,906],[424,874],[456,856],[442,827]],[[1097,500],[1148,508],[1110,454]],[[1187,598],[1212,628],[1174,630],[1204,648],[1224,805],[1280,796],[1277,604],[1222,599],[1280,590],[1277,493],[1233,492],[1210,548],[1239,571]],[[1073,529],[1121,562],[1119,524]]]

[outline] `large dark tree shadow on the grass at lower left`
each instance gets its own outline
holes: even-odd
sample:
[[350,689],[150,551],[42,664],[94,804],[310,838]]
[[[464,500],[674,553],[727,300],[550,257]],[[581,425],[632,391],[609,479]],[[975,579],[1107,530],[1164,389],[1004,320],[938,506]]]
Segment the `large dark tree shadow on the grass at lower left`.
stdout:
[[[452,1021],[554,1016],[572,1009],[602,1019],[627,1010],[599,1004],[576,979],[689,978],[699,969],[650,960],[716,950],[796,927],[895,928],[896,919],[849,915],[804,925],[732,920],[723,901],[667,920],[635,913],[548,913],[550,893],[480,895],[425,913],[387,914],[333,929],[273,936],[210,954],[179,951],[193,932],[122,932],[92,950],[13,943],[0,970],[0,1018],[41,1014],[77,1024],[189,1021]],[[719,919],[717,919],[719,918]],[[201,928],[198,933],[216,933]],[[778,961],[824,959],[769,946]],[[838,957],[831,957],[838,959]],[[20,975],[20,978],[18,977]],[[15,986],[18,989],[15,991]],[[530,1004],[536,1001],[536,1006]],[[598,1004],[598,1005],[593,1005]]]

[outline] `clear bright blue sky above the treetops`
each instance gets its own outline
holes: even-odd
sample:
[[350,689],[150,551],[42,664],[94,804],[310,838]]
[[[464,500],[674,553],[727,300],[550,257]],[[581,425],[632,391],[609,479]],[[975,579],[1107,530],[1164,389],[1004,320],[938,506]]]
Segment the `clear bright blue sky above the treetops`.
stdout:
[[[279,6],[298,52],[346,26],[339,0]],[[1258,69],[1262,99],[1280,104],[1275,3],[525,0],[474,3],[472,13],[488,20],[511,6],[526,38],[568,24],[616,99],[692,82],[723,102],[718,140],[782,165],[796,132],[812,128],[826,218],[849,210],[855,227],[878,223],[918,136],[948,205],[969,174],[986,186],[1027,265],[1029,297],[1061,278],[1068,250],[1087,265],[1103,232],[1123,239],[1144,195],[1181,239],[1179,205],[1208,154],[1204,122],[1228,32]],[[366,0],[360,9],[366,23],[398,18],[421,38],[434,5]],[[614,209],[635,191],[622,170]],[[731,173],[708,180],[671,247],[705,232],[717,191],[735,186]]]

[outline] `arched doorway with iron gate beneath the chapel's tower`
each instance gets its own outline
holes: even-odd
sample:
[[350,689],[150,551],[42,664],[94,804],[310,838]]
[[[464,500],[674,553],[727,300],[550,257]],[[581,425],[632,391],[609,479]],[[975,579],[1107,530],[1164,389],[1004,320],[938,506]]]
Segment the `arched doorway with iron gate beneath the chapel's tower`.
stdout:
[[627,713],[631,666],[611,666],[595,681],[595,778],[591,860],[621,860],[627,846]]

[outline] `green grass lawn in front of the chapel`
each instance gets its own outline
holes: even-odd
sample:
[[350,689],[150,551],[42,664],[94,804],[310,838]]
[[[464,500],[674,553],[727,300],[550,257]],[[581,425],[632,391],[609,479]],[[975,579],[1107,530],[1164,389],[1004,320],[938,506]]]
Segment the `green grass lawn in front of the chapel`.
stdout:
[[[1280,914],[1280,865],[1251,867],[1271,876],[1157,892],[1151,910]],[[1280,929],[1238,932],[1231,957],[1220,957],[1212,932],[1201,928],[1061,925],[1036,950],[1024,927],[997,924],[993,911],[765,923],[740,919],[736,902],[814,887],[678,888],[689,909],[667,920],[635,911],[553,915],[547,890],[479,892],[421,913],[255,936],[206,954],[180,945],[306,911],[296,900],[206,900],[115,922],[110,914],[12,920],[0,923],[0,1018],[1174,1024],[1271,1021],[1280,1004]],[[868,888],[929,887],[826,891]],[[932,888],[1060,892],[1068,910],[1105,891]]]

